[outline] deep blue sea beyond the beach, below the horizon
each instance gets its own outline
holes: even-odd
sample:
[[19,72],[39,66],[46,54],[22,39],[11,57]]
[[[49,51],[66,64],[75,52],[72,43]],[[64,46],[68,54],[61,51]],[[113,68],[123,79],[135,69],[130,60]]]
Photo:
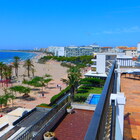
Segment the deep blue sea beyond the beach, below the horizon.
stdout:
[[13,62],[13,58],[15,56],[20,57],[20,60],[27,60],[35,57],[36,53],[28,53],[28,52],[2,52],[0,51],[0,62],[3,63],[11,63]]

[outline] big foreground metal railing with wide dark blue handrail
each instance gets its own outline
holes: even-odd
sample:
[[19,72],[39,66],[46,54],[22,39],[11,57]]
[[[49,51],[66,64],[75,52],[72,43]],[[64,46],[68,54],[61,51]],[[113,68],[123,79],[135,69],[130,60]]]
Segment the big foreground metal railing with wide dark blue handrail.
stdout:
[[[116,83],[115,66],[116,62],[112,64],[109,75],[106,79],[100,100],[85,135],[85,140],[103,140],[108,135],[105,133],[105,128],[107,127],[108,112],[110,110],[110,95],[113,93],[114,84]],[[114,111],[114,109],[112,111]],[[112,127],[110,127],[110,129],[111,128]],[[111,133],[112,130],[109,130],[109,132]],[[110,134],[110,136],[110,139],[114,138],[114,134]]]

